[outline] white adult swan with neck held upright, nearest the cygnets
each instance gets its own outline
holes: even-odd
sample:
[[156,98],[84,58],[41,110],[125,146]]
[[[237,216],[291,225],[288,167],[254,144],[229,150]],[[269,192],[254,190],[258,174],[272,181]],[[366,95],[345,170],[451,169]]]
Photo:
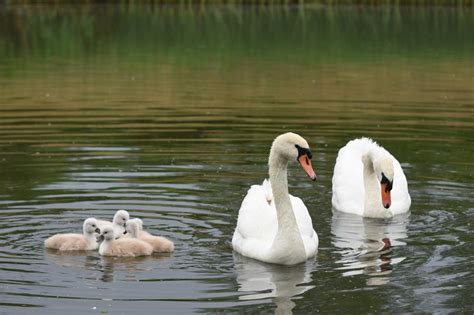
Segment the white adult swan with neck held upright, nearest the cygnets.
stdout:
[[288,193],[287,165],[298,161],[316,180],[311,151],[301,136],[278,136],[268,159],[270,183],[253,185],[242,201],[232,238],[234,250],[267,263],[294,265],[316,254],[318,235],[303,201]]

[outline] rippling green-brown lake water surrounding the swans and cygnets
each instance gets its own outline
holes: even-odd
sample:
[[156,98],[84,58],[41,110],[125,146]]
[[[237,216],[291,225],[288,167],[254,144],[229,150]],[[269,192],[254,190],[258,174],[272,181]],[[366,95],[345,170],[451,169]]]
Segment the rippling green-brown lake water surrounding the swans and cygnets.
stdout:
[[[472,313],[472,7],[0,7],[0,313]],[[294,131],[317,257],[232,252],[243,196]],[[411,214],[333,214],[338,149],[402,163]],[[46,251],[127,209],[176,251]]]

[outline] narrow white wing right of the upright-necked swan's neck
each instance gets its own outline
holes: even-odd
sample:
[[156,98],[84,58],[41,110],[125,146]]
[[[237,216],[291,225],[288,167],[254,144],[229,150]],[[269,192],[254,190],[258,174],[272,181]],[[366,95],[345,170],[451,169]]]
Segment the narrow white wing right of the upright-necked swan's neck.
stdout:
[[318,249],[318,234],[313,228],[313,221],[309,215],[308,208],[306,208],[301,198],[290,195],[291,206],[295,214],[296,223],[300,230],[301,238],[303,239],[306,256],[312,257],[316,254]]

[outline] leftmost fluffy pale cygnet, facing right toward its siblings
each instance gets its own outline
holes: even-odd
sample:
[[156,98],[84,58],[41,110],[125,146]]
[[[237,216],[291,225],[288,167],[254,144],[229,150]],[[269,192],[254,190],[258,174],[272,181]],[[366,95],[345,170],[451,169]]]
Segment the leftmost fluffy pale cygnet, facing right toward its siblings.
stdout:
[[56,234],[44,241],[44,247],[58,250],[94,250],[99,247],[95,233],[100,234],[100,229],[95,218],[84,221],[83,234],[66,233]]

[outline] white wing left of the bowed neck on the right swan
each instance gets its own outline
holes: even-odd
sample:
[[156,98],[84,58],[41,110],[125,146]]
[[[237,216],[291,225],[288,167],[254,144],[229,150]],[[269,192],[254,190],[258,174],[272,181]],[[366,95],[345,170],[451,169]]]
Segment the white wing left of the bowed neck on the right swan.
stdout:
[[350,145],[351,142],[337,155],[332,177],[332,206],[339,211],[363,215],[364,165],[361,150]]

